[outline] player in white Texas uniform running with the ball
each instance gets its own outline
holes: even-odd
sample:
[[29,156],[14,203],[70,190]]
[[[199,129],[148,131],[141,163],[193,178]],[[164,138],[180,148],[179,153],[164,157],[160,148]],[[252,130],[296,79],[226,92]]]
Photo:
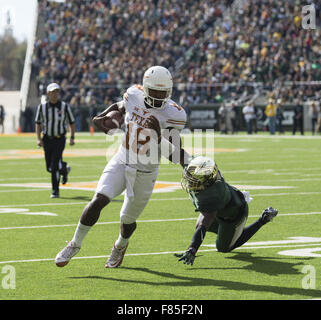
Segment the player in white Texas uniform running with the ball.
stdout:
[[136,220],[152,194],[161,150],[166,151],[165,156],[170,161],[183,167],[187,165],[190,156],[181,148],[179,138],[186,113],[171,100],[172,88],[170,72],[164,67],[153,66],[144,73],[142,86],[127,89],[122,101],[112,104],[93,119],[97,127],[108,133],[104,120],[109,112],[120,111],[125,120],[124,139],[117,154],[107,163],[93,199],[84,208],[73,239],[57,254],[57,266],[65,266],[80,250],[101,210],[126,190],[120,211],[120,234],[105,265],[106,268],[120,266],[128,240],[136,229]]

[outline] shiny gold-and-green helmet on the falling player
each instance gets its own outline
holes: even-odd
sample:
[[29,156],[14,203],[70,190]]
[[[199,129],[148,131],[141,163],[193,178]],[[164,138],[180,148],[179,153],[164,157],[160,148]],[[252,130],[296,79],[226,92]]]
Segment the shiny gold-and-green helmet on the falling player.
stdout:
[[218,167],[214,160],[198,156],[191,160],[183,171],[182,188],[187,191],[201,191],[212,184],[218,175]]

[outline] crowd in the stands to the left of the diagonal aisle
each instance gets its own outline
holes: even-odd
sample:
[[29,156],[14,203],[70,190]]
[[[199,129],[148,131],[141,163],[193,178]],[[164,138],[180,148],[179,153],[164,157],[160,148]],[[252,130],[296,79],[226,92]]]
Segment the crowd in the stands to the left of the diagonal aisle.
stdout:
[[36,39],[33,57],[39,94],[56,81],[74,89],[67,100],[108,104],[151,65],[172,69],[230,2],[40,0],[45,36]]

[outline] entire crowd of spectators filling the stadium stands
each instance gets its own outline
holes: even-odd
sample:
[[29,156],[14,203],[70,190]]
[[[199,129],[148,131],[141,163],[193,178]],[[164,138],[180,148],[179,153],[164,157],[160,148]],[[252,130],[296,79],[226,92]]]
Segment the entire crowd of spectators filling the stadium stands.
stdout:
[[72,105],[108,105],[151,65],[172,71],[175,99],[189,104],[262,89],[290,101],[321,92],[320,85],[299,84],[321,81],[321,30],[301,26],[302,7],[313,1],[233,2],[39,0],[43,32],[33,56],[39,96],[56,81]]

